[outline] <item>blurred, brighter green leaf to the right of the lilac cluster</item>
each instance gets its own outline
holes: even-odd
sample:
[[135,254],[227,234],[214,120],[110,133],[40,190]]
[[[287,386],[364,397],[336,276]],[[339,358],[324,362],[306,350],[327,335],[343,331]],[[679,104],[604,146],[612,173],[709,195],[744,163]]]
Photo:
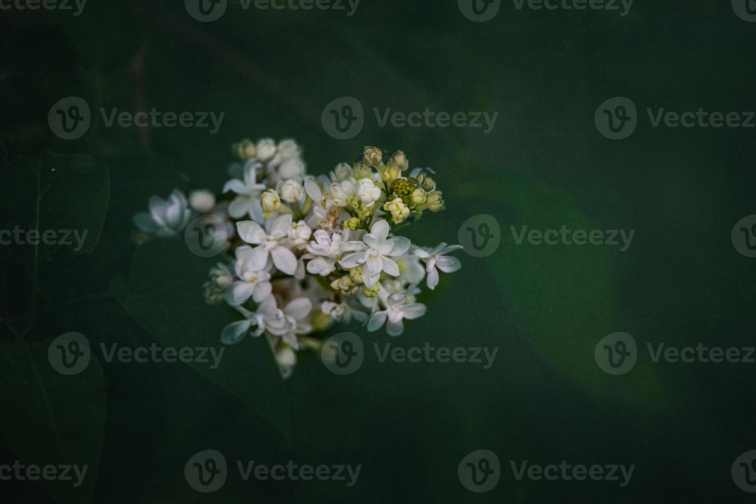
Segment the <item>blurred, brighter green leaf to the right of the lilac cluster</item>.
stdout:
[[517,233],[523,225],[528,230],[558,230],[565,224],[590,232],[606,225],[591,221],[557,190],[522,183],[505,187],[497,187],[499,201],[506,202],[516,218],[502,223],[500,247],[490,265],[534,347],[593,394],[613,394],[646,407],[663,405],[662,385],[646,360],[639,359],[631,373],[617,379],[603,373],[593,358],[604,336],[632,332],[618,326],[615,296],[621,285],[609,254],[621,252],[606,246],[532,246],[527,240],[517,245],[510,230],[510,225]]

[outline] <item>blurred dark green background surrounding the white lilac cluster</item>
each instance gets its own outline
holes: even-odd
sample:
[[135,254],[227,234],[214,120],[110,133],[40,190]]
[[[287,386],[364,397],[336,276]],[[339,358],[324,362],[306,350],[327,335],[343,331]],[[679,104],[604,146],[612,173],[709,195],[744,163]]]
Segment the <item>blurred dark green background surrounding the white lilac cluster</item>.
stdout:
[[[640,347],[753,345],[756,259],[730,230],[756,213],[754,129],[652,128],[646,107],[756,109],[756,23],[729,0],[637,0],[617,11],[517,11],[503,2],[472,23],[457,2],[362,0],[343,11],[243,11],[231,2],[197,23],[183,2],[98,2],[82,16],[0,11],[0,135],[11,154],[104,156],[110,206],[91,255],[56,255],[40,277],[52,299],[110,291],[128,274],[131,218],[172,187],[219,189],[229,146],[244,137],[296,138],[312,173],[351,161],[364,145],[401,148],[430,165],[445,212],[407,230],[413,241],[455,243],[467,218],[494,215],[494,255],[457,252],[463,269],[425,298],[429,314],[395,345],[497,346],[491,369],[472,364],[377,364],[338,377],[301,362],[280,409],[290,440],[234,395],[184,364],[104,363],[107,424],[94,502],[745,502],[730,478],[756,448],[754,364],[658,363],[644,351],[625,376],[604,374],[593,347],[630,332]],[[61,141],[51,105],[85,98],[119,107],[225,111],[207,129],[104,128]],[[593,113],[631,97],[642,115],[631,138],[609,141]],[[354,96],[366,125],[351,141],[321,127],[325,104]],[[143,104],[143,105],[140,105]],[[373,107],[499,112],[494,131],[378,128]],[[515,246],[510,224],[635,229],[611,247]],[[29,308],[28,278],[5,264],[11,308]],[[200,286],[197,286],[200,289]],[[199,292],[199,290],[198,290]],[[11,341],[10,333],[2,341]],[[357,332],[361,329],[355,328]],[[113,298],[50,311],[29,341],[77,331],[91,342],[150,345]],[[383,332],[361,332],[386,342]],[[207,334],[218,345],[218,334]],[[246,341],[243,345],[262,342]],[[227,349],[227,352],[235,348]],[[254,379],[250,376],[237,379]],[[5,376],[0,370],[0,379]],[[6,386],[0,382],[0,386]],[[3,404],[13,410],[16,405]],[[79,425],[87,428],[86,425]],[[6,438],[8,433],[3,433]],[[229,461],[361,464],[338,482],[230,478],[195,493],[184,462],[213,448]],[[494,490],[470,493],[457,464],[472,450],[499,456]],[[0,444],[0,463],[18,457]],[[515,481],[509,460],[546,465],[635,464],[631,484]],[[232,462],[233,463],[233,462]],[[48,502],[36,484],[0,482],[7,502]]]

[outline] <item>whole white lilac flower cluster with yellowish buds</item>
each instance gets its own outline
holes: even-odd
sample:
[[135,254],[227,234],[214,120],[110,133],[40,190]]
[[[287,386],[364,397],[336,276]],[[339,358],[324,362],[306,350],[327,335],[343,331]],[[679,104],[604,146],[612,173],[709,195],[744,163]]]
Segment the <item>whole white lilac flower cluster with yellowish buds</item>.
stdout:
[[296,352],[321,348],[313,335],[334,323],[400,335],[403,320],[426,313],[420,283],[435,289],[439,271],[460,268],[448,253],[461,246],[426,248],[395,235],[424,211],[445,208],[435,172],[410,170],[401,150],[365,147],[328,176],[308,175],[292,140],[245,140],[233,151],[239,162],[222,196],[196,190],[187,199],[174,190],[168,201],[153,196],[150,212],[134,220],[145,233],[172,237],[197,215],[224,219],[228,261],[209,272],[206,301],[225,301],[241,316],[223,329],[224,344],[265,335],[284,377]]

